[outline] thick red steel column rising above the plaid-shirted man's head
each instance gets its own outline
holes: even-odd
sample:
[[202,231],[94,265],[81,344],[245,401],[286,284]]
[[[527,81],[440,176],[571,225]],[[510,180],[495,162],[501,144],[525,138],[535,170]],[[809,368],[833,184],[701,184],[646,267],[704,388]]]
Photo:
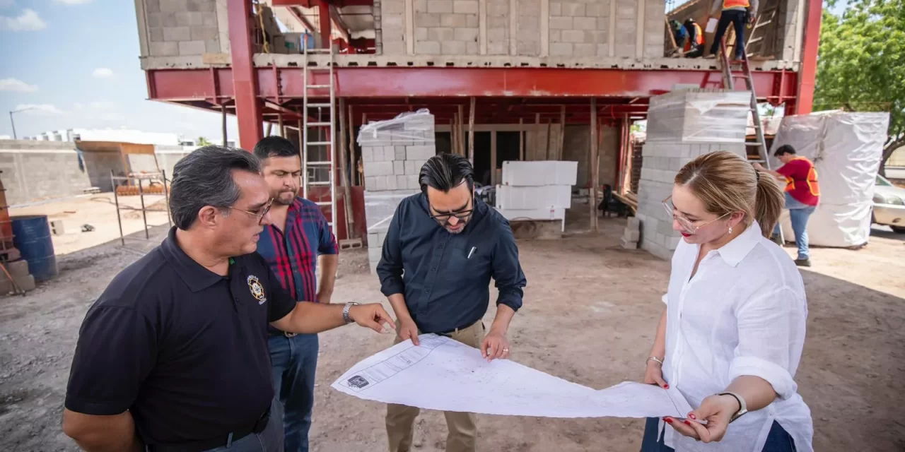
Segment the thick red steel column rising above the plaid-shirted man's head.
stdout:
[[252,2],[227,0],[229,45],[233,61],[235,114],[239,121],[239,146],[251,151],[264,136],[262,101],[252,61]]

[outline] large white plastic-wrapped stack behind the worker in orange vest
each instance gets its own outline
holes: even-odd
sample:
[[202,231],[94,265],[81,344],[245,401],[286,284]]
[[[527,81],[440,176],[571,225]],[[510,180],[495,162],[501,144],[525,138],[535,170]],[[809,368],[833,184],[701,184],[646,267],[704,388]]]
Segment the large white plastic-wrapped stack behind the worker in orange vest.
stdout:
[[[827,111],[783,119],[770,155],[783,145],[814,162],[820,204],[807,224],[808,241],[824,247],[856,247],[871,236],[873,188],[889,127],[888,113]],[[771,156],[771,167],[782,165]],[[781,220],[794,240],[788,213]]]

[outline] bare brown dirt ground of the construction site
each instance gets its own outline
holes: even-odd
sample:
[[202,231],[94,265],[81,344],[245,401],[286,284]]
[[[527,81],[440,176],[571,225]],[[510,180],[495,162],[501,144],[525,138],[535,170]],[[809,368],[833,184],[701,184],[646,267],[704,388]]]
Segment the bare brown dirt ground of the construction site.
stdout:
[[[510,329],[513,360],[601,389],[641,378],[670,269],[618,247],[623,221],[602,224],[600,237],[519,242],[529,286]],[[165,229],[154,229],[157,240]],[[60,429],[68,369],[86,309],[140,255],[118,245],[63,256],[59,278],[26,297],[0,298],[0,450],[76,450]],[[812,259],[814,268],[802,272],[810,317],[796,381],[813,410],[815,450],[902,451],[905,236],[875,230],[862,250],[814,250]],[[383,300],[366,252],[342,254],[333,300]],[[493,314],[491,307],[486,319]],[[322,334],[320,344],[313,450],[386,450],[384,406],[329,385],[391,339],[347,326]],[[636,451],[642,428],[640,419],[479,416],[479,449]],[[425,412],[416,447],[443,450],[445,434],[442,413]]]

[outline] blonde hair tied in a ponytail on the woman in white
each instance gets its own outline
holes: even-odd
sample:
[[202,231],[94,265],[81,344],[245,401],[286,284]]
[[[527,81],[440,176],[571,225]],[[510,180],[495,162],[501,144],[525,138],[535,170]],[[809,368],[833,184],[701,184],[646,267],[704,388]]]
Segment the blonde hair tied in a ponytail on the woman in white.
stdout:
[[700,155],[679,170],[675,183],[691,190],[707,212],[718,216],[744,212],[769,237],[779,220],[785,200],[779,185],[768,174],[757,174],[744,158],[726,151]]

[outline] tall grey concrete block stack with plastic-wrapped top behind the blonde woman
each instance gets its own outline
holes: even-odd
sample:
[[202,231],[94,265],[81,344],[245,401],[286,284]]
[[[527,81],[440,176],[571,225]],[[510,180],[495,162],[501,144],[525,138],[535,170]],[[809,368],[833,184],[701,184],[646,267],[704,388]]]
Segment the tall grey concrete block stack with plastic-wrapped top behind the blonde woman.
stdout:
[[699,155],[729,151],[746,157],[745,129],[750,113],[749,91],[690,89],[651,98],[644,164],[638,184],[641,248],[670,259],[681,235],[662,201],[682,166]]

